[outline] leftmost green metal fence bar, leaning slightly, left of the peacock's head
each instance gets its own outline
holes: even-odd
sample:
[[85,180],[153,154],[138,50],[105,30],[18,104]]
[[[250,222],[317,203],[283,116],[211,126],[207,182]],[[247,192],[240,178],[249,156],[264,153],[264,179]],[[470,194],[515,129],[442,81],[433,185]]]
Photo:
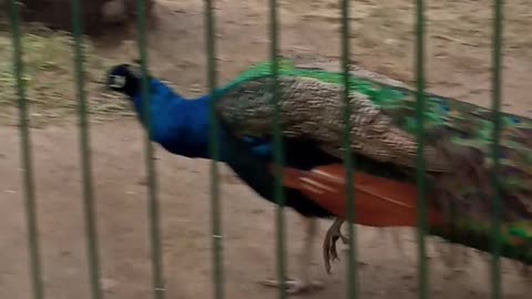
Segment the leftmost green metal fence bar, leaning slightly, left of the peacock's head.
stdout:
[[28,100],[25,84],[22,80],[23,62],[22,45],[19,29],[19,3],[9,1],[9,19],[13,45],[13,71],[17,80],[17,95],[19,97],[19,132],[21,144],[22,181],[24,182],[25,221],[28,226],[28,250],[30,258],[30,274],[34,299],[44,298],[42,283],[42,268],[39,249],[39,229],[37,227],[35,187],[33,182],[33,159],[31,154],[31,136],[28,121]]

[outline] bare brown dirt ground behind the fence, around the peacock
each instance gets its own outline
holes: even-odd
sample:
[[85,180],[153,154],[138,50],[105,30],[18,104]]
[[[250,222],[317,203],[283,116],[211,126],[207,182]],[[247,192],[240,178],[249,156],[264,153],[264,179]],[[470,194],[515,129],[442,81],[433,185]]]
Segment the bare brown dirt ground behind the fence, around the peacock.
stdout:
[[[219,78],[224,83],[250,63],[268,58],[268,10],[265,0],[215,2]],[[338,1],[280,2],[283,54],[338,59]],[[505,9],[509,21],[504,48],[504,110],[530,116],[532,7],[526,2],[514,0],[508,2]],[[354,63],[411,84],[412,1],[365,0],[352,1],[351,7]],[[488,0],[429,1],[427,71],[431,91],[489,105],[490,9]],[[203,1],[161,0],[156,11],[157,22],[150,32],[152,72],[171,81],[181,93],[196,96],[205,91],[206,78]],[[120,38],[112,35],[95,41],[93,54],[112,63],[131,61],[136,48],[124,41],[131,37]],[[102,75],[104,71],[95,73]],[[93,83],[99,80],[94,79]],[[59,87],[54,91],[60,92]],[[113,100],[96,91],[90,90],[89,94],[93,111],[103,105],[104,100]],[[73,96],[63,100],[75,103]],[[45,295],[53,299],[84,299],[90,298],[90,291],[78,130],[68,114],[54,114],[59,111],[54,104],[32,106],[32,121],[39,123],[39,118],[47,116],[44,125],[32,131]],[[16,120],[12,106],[2,105],[1,110],[1,117],[8,121],[0,126],[0,298],[24,299],[31,297],[31,288],[19,138],[17,127],[11,125]],[[109,115],[114,113],[112,109],[98,111],[100,114],[93,117],[98,123],[91,127],[103,286],[105,298],[150,298],[143,135],[136,121],[123,116],[119,110],[116,117]],[[160,148],[156,156],[167,298],[208,298],[213,289],[208,162],[172,156]],[[274,289],[255,283],[275,275],[275,207],[258,198],[225,168],[222,198],[227,298],[275,298]],[[291,270],[303,234],[299,218],[291,212],[287,213],[287,218]],[[328,225],[321,224],[320,236]],[[359,227],[358,233],[362,298],[415,298],[418,281],[415,231],[397,233],[406,257],[388,235],[364,227]],[[485,257],[474,254],[463,272],[452,272],[436,258],[438,255],[432,246],[430,249],[432,298],[489,297]],[[335,262],[332,275],[328,276],[320,258],[320,244],[317,244],[311,270],[317,279],[326,282],[326,289],[308,298],[344,297],[345,260]],[[525,296],[531,291],[530,281],[526,283],[510,264],[504,264],[503,281],[504,298],[530,297]]]

